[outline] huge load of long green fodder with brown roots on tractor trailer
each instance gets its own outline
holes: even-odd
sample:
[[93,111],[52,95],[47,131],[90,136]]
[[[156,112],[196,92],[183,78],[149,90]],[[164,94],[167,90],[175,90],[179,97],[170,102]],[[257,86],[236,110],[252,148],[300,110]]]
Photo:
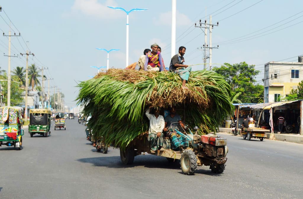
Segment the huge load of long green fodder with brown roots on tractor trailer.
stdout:
[[95,138],[123,148],[148,131],[144,111],[149,107],[182,108],[185,122],[199,126],[200,133],[214,131],[232,113],[230,85],[217,73],[192,71],[189,89],[181,83],[173,72],[110,69],[80,82],[77,101],[85,115],[92,115],[88,128]]

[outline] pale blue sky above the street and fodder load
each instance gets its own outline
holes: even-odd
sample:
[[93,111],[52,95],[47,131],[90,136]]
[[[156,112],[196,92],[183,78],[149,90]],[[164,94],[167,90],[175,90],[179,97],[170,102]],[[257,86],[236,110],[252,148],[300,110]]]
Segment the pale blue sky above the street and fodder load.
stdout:
[[[156,42],[162,47],[165,65],[169,66],[170,0],[19,0],[2,1],[1,6],[23,39],[29,41],[26,43],[35,54],[29,63],[35,63],[40,68],[48,67],[45,74],[54,79],[50,86],[61,88],[65,94],[65,104],[69,107],[76,104],[74,99],[78,94],[75,87],[77,82],[87,80],[97,73],[97,69],[90,66],[106,66],[107,53],[96,48],[121,49],[109,54],[109,66],[125,68],[126,14],[106,6],[126,10],[148,8],[129,15],[129,63],[138,61],[143,50]],[[245,10],[241,11],[243,9]],[[282,59],[293,61],[297,58],[291,57],[303,54],[301,11],[303,1],[299,0],[179,0],[176,48],[187,48],[187,64],[203,63],[203,52],[197,48],[204,43],[204,34],[194,27],[194,23],[200,18],[205,20],[205,15],[212,14],[213,23],[219,22],[219,26],[213,29],[212,42],[213,45],[219,45],[219,49],[213,50],[212,62],[234,64],[245,61],[254,64],[256,69],[261,70],[257,80],[262,84],[265,63]],[[236,14],[237,12],[239,13]],[[8,34],[9,26],[6,23],[9,24],[9,20],[5,13],[0,12],[4,18],[0,18],[0,31]],[[279,21],[281,22],[277,23]],[[18,34],[18,30],[12,26],[12,33]],[[25,53],[25,42],[22,38],[18,39],[12,37],[12,54]],[[7,55],[7,49],[8,39],[2,36],[0,53]],[[0,56],[0,66],[1,69],[8,69],[6,56]],[[12,58],[11,68],[16,66],[25,67],[25,57]],[[193,66],[193,70],[199,69],[203,69],[203,65]]]

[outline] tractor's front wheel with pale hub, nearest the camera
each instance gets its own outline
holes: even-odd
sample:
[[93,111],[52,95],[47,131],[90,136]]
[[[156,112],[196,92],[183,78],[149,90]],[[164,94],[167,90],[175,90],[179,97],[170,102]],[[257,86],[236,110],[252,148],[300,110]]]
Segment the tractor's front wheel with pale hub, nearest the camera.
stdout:
[[185,175],[193,175],[197,170],[197,158],[195,153],[187,149],[181,155],[181,169]]

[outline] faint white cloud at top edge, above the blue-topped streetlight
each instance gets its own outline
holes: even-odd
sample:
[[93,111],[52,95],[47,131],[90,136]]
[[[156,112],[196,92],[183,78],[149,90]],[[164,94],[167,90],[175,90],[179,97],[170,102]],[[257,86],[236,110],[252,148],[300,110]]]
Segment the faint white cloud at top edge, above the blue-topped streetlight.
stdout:
[[113,10],[107,6],[117,7],[114,0],[107,0],[104,4],[98,3],[98,0],[75,0],[71,8],[72,12],[81,12],[87,16],[100,19],[116,19],[125,17],[125,13],[120,10]]

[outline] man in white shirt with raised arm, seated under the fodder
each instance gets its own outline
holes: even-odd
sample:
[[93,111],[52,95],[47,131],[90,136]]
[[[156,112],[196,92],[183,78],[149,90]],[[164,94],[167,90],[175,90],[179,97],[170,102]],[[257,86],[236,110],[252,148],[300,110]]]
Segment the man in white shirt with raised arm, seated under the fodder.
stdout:
[[149,109],[145,112],[146,117],[149,120],[148,141],[151,143],[151,152],[155,153],[156,150],[161,149],[163,146],[163,129],[164,129],[164,117],[160,115],[160,110],[155,109],[154,114],[149,113]]

